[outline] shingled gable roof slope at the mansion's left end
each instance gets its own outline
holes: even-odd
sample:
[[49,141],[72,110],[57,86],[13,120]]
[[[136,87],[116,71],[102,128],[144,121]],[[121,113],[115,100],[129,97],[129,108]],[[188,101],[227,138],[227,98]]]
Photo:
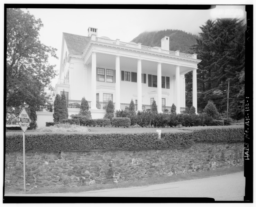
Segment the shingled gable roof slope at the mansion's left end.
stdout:
[[88,44],[90,37],[74,35],[63,32],[69,54],[82,55],[83,50]]

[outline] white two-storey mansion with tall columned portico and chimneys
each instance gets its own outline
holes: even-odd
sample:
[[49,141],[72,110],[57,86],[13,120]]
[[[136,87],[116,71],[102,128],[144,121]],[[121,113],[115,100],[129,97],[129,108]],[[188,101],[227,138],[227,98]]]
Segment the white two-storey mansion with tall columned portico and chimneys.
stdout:
[[[89,101],[92,118],[103,117],[109,100],[115,103],[115,110],[125,109],[133,100],[136,111],[150,109],[155,100],[158,112],[166,113],[174,103],[180,113],[185,107],[184,75],[191,70],[197,112],[196,69],[201,60],[196,54],[170,51],[169,37],[162,38],[161,47],[147,47],[97,34],[98,29],[92,27],[88,37],[63,32],[55,94],[65,93],[70,115],[79,112],[83,96]],[[37,112],[38,127],[53,121],[52,114]]]

